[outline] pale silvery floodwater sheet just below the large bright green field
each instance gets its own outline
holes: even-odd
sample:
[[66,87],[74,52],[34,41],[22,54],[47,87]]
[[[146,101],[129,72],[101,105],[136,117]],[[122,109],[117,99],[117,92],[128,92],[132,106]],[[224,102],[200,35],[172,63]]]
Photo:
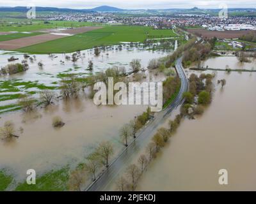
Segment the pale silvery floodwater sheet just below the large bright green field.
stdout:
[[[12,55],[19,60],[8,62],[8,58]],[[61,80],[61,78],[58,77],[60,73],[76,73],[86,77],[86,75],[104,71],[113,66],[124,66],[128,71],[130,68],[129,63],[132,59],[140,59],[141,66],[147,68],[150,59],[163,57],[166,55],[166,52],[147,50],[143,48],[143,45],[131,47],[130,44],[122,44],[120,46],[114,45],[106,47],[106,50],[101,50],[99,56],[94,55],[93,49],[82,50],[81,57],[79,57],[78,61],[75,63],[65,59],[66,55],[71,57],[72,54],[35,55],[36,61],[31,62],[27,59],[29,64],[27,71],[7,77],[0,77],[0,80],[17,78],[25,82],[38,80],[42,84],[54,86],[51,83]],[[29,56],[33,57],[34,55],[29,54]],[[6,64],[17,63],[22,60],[24,60],[23,54],[15,52],[10,54],[10,52],[0,51],[0,68],[6,66]],[[93,71],[88,70],[89,61],[93,62]],[[38,62],[44,64],[43,68],[38,68]]]

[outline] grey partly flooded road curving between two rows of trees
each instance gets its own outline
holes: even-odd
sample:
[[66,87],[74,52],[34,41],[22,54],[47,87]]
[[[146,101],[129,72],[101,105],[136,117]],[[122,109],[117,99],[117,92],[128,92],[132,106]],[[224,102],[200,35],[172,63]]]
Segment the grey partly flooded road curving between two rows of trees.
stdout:
[[170,106],[168,106],[168,108],[155,114],[154,119],[152,119],[147,126],[138,133],[136,139],[109,165],[107,170],[101,173],[100,177],[98,177],[98,179],[95,180],[95,182],[93,182],[86,191],[108,191],[109,186],[111,186],[110,184],[113,184],[123,170],[131,164],[132,158],[136,155],[136,152],[142,148],[143,144],[150,140],[151,136],[156,133],[157,129],[160,128],[161,125],[163,125],[166,118],[170,116],[172,111],[184,102],[182,94],[183,92],[188,91],[188,78],[184,73],[181,62],[182,59],[179,58],[175,64],[177,74],[181,81],[180,91],[177,97],[173,100]]

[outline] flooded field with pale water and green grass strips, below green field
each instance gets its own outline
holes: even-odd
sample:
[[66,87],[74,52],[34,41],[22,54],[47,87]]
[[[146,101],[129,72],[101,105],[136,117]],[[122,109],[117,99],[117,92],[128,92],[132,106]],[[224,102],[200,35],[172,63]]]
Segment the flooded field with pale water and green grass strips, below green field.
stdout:
[[[15,95],[17,94],[35,94],[37,98],[36,92],[43,89],[58,90],[60,81],[70,77],[70,75],[86,77],[114,66],[124,67],[126,71],[131,71],[129,63],[132,59],[140,59],[142,68],[147,68],[150,59],[164,57],[172,52],[171,50],[168,52],[154,51],[153,48],[157,45],[159,44],[153,43],[153,45],[145,47],[140,43],[124,42],[122,45],[100,48],[99,56],[95,56],[94,49],[82,50],[76,62],[71,61],[72,54],[29,54],[29,57],[26,58],[29,64],[27,71],[5,77],[0,76],[0,107],[15,105],[18,98]],[[8,62],[11,56],[17,60]],[[0,68],[7,64],[21,63],[22,61],[24,61],[24,54],[0,51]],[[93,62],[92,70],[88,69],[89,61]],[[38,62],[42,62],[43,66],[39,67]],[[8,85],[4,85],[6,80],[9,80]]]

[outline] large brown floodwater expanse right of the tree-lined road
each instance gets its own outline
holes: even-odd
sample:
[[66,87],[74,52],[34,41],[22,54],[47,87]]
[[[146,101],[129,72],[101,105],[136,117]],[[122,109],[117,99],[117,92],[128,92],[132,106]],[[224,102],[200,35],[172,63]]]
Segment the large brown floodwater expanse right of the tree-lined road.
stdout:
[[[214,68],[228,63],[223,57],[212,61]],[[138,191],[256,190],[256,74],[218,71],[216,80],[222,78],[227,85],[216,86],[204,115],[182,121],[141,177]],[[228,171],[228,185],[218,183],[221,169]]]

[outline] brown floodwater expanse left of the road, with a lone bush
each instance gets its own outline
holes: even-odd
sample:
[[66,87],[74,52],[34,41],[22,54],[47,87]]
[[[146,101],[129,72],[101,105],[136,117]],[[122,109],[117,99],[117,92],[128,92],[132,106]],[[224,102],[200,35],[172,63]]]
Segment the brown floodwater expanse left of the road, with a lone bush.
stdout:
[[[20,137],[12,142],[0,141],[0,169],[7,168],[19,180],[30,168],[42,174],[66,164],[83,162],[102,141],[113,142],[118,152],[123,147],[118,137],[120,128],[146,108],[143,105],[96,106],[92,99],[81,97],[60,101],[36,113],[4,113],[0,126],[12,120],[15,135]],[[54,116],[60,116],[65,126],[53,128]]]

